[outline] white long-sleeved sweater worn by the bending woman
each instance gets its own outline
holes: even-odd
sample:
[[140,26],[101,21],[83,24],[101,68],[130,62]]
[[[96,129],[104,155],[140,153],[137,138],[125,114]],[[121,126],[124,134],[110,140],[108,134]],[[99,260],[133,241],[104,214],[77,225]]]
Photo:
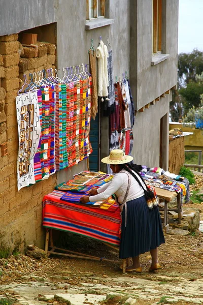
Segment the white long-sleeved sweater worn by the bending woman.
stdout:
[[[118,197],[118,202],[122,203],[125,197],[127,184],[128,184],[128,177],[124,172],[127,173],[127,171],[122,170],[122,172],[116,174],[110,182],[97,189],[98,195],[90,196],[89,201],[94,202],[94,201],[105,200],[109,198],[111,195],[116,194],[116,196]],[[138,178],[143,184],[141,178],[139,176]],[[143,186],[145,188],[144,184]],[[131,185],[126,201],[130,201],[142,197],[143,195],[144,195],[143,189],[141,188],[137,180],[132,176]]]

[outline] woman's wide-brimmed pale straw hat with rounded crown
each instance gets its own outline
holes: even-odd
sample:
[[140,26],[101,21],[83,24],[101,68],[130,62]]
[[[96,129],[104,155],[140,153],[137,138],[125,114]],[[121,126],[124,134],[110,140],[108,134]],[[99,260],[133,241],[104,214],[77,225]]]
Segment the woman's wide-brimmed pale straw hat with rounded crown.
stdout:
[[101,162],[106,164],[124,164],[132,161],[131,156],[125,156],[123,150],[113,149],[110,151],[109,157],[101,159]]

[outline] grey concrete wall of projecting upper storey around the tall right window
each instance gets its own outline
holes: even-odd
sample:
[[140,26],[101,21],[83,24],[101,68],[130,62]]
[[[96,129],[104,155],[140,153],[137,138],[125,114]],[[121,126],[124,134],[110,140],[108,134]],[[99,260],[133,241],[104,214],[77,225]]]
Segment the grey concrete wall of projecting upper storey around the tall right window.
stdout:
[[151,66],[152,3],[137,0],[137,8],[131,4],[130,79],[137,110],[177,84],[179,2],[163,0],[162,53],[170,57],[155,66]]

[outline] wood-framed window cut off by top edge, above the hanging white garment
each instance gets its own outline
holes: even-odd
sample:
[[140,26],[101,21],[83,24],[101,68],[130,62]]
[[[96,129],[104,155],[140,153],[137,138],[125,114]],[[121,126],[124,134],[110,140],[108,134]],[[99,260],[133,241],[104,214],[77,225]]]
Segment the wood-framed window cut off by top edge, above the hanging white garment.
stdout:
[[105,17],[105,0],[86,0],[86,19]]

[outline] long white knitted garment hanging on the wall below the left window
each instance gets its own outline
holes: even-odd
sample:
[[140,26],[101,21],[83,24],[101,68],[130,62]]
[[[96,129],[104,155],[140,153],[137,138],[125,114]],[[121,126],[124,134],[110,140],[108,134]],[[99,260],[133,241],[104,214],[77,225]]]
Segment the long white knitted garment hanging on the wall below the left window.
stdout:
[[109,77],[107,68],[107,58],[109,57],[109,53],[107,46],[101,40],[96,49],[96,57],[98,60],[98,97],[107,97],[109,94]]

